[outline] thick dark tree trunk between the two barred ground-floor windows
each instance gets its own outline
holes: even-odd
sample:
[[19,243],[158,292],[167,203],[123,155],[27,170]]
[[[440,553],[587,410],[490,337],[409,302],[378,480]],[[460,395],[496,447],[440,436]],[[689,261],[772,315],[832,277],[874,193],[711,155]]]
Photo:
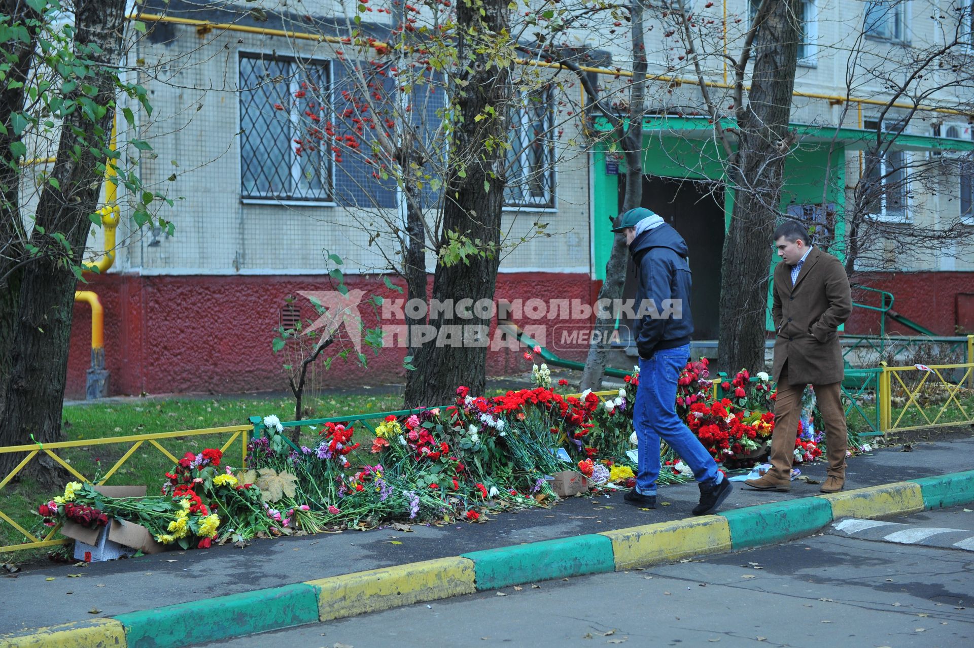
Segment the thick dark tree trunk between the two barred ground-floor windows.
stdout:
[[[509,31],[507,3],[503,0],[471,0],[457,4],[460,25],[459,59],[466,62],[462,81],[453,90],[452,101],[459,111],[451,142],[450,174],[443,190],[443,232],[439,247],[447,245],[447,233],[462,234],[470,241],[480,241],[483,254],[467,257],[467,262],[450,265],[437,259],[433,276],[432,298],[440,302],[470,299],[494,299],[497,270],[500,265],[501,213],[504,208],[505,149],[497,141],[506,141],[506,106],[510,104],[510,70],[491,62],[496,56],[494,35]],[[485,114],[494,117],[478,121]],[[471,309],[472,313],[473,309]],[[487,331],[491,317],[470,319],[453,317],[454,313],[431,315],[429,324],[441,333],[435,340],[420,346],[413,359],[416,370],[406,376],[404,400],[407,406],[435,406],[452,402],[455,390],[465,385],[474,395],[482,395],[486,385]],[[444,325],[456,328],[442,328]],[[480,344],[465,339],[464,330],[480,326]],[[446,332],[450,335],[446,340]],[[469,333],[468,333],[469,335]],[[458,339],[459,336],[459,339]]]

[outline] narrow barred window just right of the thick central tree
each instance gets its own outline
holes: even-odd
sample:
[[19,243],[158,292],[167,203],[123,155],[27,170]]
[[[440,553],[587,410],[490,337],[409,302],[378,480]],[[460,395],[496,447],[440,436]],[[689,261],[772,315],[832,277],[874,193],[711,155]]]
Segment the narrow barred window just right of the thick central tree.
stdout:
[[512,108],[506,207],[554,207],[554,115],[551,94],[525,93]]

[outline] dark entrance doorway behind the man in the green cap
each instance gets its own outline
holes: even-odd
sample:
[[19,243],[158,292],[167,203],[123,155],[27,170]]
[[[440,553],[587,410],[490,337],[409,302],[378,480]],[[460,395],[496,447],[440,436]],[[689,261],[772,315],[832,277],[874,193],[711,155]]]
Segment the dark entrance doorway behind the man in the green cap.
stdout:
[[[647,175],[643,207],[656,211],[687,241],[693,271],[693,339],[717,339],[724,254],[724,189],[712,182]],[[629,260],[623,297],[636,296],[635,273]]]

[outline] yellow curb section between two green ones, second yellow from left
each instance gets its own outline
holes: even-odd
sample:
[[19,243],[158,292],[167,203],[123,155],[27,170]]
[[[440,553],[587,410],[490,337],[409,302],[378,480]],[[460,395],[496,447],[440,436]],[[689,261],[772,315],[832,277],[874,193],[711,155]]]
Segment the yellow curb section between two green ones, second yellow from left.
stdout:
[[451,557],[307,581],[319,588],[320,621],[471,594],[473,561]]

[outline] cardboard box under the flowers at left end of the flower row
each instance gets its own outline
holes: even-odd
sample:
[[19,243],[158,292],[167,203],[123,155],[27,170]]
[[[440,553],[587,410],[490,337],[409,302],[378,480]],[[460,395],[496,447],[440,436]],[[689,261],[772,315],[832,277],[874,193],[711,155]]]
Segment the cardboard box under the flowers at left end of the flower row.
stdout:
[[[107,497],[145,497],[145,486],[95,486]],[[141,524],[109,518],[103,527],[90,529],[70,520],[64,522],[61,534],[74,540],[74,557],[86,562],[114,560],[132,553],[159,553],[166,546],[156,542]]]

